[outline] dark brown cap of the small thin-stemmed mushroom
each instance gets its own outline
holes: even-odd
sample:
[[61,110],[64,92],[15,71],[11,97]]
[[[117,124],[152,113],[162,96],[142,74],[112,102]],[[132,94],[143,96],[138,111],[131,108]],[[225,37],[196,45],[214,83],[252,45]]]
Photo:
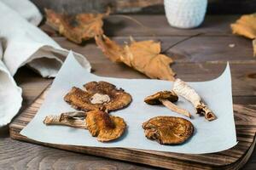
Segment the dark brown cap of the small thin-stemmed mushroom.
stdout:
[[148,105],[161,105],[160,99],[167,99],[171,102],[176,102],[178,97],[173,91],[160,91],[146,97],[144,102],[146,102]]

